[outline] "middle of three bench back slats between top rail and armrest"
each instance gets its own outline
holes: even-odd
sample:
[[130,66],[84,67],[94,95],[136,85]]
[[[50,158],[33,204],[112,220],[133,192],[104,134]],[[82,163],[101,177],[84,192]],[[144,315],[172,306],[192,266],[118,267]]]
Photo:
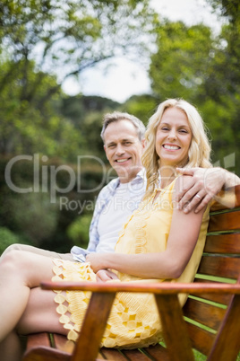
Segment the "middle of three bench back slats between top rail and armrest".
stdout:
[[239,253],[240,233],[225,233],[209,235],[206,240],[204,252],[209,253]]

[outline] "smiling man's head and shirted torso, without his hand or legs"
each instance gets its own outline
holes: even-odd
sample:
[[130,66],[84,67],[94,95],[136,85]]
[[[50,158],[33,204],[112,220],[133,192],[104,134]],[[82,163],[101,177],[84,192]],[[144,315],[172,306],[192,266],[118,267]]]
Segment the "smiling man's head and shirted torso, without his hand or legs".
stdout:
[[114,251],[122,225],[138,207],[145,192],[141,165],[144,133],[141,120],[130,114],[114,112],[105,116],[101,137],[107,160],[118,178],[100,191],[90,224],[88,250],[73,247],[74,260],[82,260],[90,251]]

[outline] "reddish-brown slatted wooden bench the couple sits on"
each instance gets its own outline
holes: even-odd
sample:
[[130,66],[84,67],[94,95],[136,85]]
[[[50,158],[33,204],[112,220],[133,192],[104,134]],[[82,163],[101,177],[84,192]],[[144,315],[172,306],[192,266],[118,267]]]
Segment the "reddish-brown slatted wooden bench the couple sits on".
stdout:
[[[236,360],[240,349],[240,186],[236,207],[210,214],[201,264],[193,284],[43,283],[46,289],[90,290],[92,297],[76,342],[61,335],[30,335],[24,361],[51,360],[194,360],[193,349],[208,360]],[[214,281],[210,277],[217,277]],[[166,348],[99,349],[116,292],[152,292],[163,325]],[[182,310],[177,294],[188,293]],[[183,317],[184,314],[184,317]]]

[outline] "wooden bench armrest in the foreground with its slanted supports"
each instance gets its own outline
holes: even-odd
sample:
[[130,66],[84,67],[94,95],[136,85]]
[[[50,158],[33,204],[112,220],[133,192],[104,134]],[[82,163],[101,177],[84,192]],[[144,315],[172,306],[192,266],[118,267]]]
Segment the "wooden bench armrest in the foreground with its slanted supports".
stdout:
[[[214,358],[225,360],[223,349],[230,339],[237,339],[240,326],[236,327],[231,334],[232,320],[236,320],[240,309],[240,284],[214,284],[214,283],[171,283],[171,282],[119,282],[110,281],[107,283],[97,282],[42,282],[42,288],[47,290],[71,290],[92,292],[90,304],[85,314],[81,326],[80,337],[76,343],[73,353],[73,361],[84,360],[80,355],[89,355],[90,359],[95,359],[99,352],[99,345],[104,334],[112,304],[117,292],[137,292],[152,293],[155,296],[159,310],[164,339],[167,345],[169,359],[181,359],[193,361],[192,344],[186,329],[183,311],[178,301],[178,294],[191,293],[198,295],[201,293],[226,293],[235,295],[236,302],[227,314],[222,330],[219,331],[216,352]],[[98,322],[96,323],[96,320]],[[98,327],[96,325],[98,324]],[[230,336],[229,336],[230,335]],[[228,336],[228,337],[227,337]],[[236,348],[236,345],[235,345]],[[176,355],[178,358],[176,358]],[[223,355],[223,357],[220,357]],[[235,356],[235,355],[234,355]],[[80,358],[79,358],[80,357]],[[232,358],[233,359],[233,358]]]

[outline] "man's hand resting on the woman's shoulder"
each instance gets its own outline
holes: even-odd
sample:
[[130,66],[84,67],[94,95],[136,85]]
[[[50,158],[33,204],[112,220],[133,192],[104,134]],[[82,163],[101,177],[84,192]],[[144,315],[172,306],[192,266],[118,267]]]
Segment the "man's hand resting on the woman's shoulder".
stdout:
[[[175,198],[179,209],[183,209],[184,213],[190,212],[193,207],[196,207],[195,213],[198,213],[203,207],[206,207],[211,198],[214,198],[227,184],[227,175],[229,174],[222,168],[177,168],[176,171],[193,176],[189,187],[183,188]],[[233,176],[235,175],[233,174]]]

